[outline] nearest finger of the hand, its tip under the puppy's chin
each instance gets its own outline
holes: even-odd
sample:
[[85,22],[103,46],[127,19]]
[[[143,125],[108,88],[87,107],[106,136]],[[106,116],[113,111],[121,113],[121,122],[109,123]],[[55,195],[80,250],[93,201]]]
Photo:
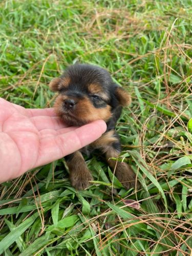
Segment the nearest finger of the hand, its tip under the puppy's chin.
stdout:
[[50,163],[69,155],[98,139],[106,131],[106,123],[97,120],[68,133],[42,137],[39,143],[39,154],[33,167]]

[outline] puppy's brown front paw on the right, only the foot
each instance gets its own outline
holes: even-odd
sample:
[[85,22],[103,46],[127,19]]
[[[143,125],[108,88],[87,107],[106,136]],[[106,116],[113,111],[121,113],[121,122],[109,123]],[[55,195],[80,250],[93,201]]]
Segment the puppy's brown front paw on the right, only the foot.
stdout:
[[[132,168],[126,163],[119,163],[116,166],[115,175],[117,179],[122,183],[122,185],[128,190],[132,187],[135,188],[136,183],[136,175],[133,172]],[[137,188],[139,188],[140,184],[137,181]]]

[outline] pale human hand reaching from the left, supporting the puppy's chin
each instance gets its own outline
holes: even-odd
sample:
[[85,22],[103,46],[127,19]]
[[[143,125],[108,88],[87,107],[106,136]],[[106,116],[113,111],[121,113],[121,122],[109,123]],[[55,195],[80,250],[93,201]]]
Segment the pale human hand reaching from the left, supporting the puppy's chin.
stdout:
[[69,155],[106,130],[102,120],[67,127],[51,108],[25,109],[2,98],[0,110],[0,183]]

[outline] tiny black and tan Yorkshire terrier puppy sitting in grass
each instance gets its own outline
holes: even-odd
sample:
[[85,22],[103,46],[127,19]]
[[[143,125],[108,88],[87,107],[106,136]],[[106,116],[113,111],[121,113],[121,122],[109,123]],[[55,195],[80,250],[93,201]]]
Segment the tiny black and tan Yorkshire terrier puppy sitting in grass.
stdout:
[[50,82],[50,89],[58,92],[54,108],[66,124],[80,126],[102,119],[108,127],[95,142],[65,157],[72,186],[78,190],[89,187],[93,177],[81,153],[97,148],[105,154],[112,172],[115,169],[115,175],[122,185],[126,189],[135,187],[136,175],[131,167],[111,159],[117,158],[121,152],[115,124],[122,106],[131,103],[130,95],[113,82],[108,71],[84,64],[70,66],[59,78]]

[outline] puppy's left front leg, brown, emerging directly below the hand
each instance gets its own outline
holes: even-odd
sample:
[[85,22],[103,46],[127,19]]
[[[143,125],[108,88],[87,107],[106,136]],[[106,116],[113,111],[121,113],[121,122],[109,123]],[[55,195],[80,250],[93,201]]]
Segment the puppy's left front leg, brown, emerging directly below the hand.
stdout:
[[83,190],[89,187],[89,181],[93,180],[92,175],[84,161],[82,154],[76,151],[65,157],[70,172],[70,180],[73,187]]

